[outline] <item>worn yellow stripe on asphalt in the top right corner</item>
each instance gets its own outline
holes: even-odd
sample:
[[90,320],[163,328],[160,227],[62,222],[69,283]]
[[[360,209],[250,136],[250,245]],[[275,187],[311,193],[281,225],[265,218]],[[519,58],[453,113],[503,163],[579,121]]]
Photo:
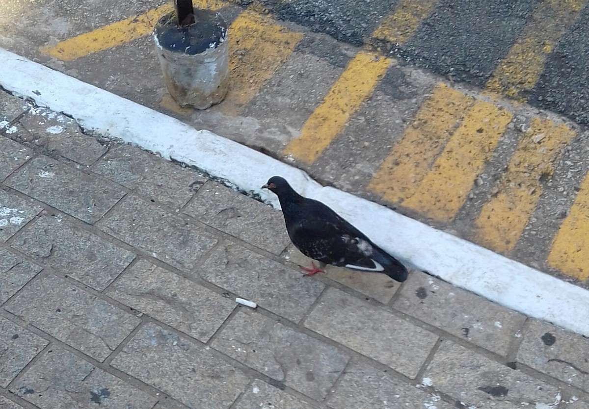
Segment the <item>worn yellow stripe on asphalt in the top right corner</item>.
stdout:
[[538,5],[522,35],[499,63],[486,89],[525,101],[534,88],[546,57],[562,34],[577,21],[587,0],[544,0]]

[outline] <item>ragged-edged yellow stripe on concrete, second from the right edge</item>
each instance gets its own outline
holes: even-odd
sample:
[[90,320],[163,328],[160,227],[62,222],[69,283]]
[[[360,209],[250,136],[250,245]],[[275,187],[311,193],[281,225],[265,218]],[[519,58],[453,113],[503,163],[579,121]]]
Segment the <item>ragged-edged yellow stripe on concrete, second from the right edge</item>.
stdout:
[[475,225],[477,242],[495,251],[514,248],[542,194],[541,178],[552,175],[553,163],[575,132],[566,125],[534,118],[522,135],[492,197]]

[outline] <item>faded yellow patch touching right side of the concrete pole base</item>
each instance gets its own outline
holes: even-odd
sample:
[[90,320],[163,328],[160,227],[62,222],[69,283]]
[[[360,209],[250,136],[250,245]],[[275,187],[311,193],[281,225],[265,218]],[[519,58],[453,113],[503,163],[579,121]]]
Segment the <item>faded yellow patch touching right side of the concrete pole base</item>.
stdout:
[[303,38],[256,12],[241,12],[229,27],[229,94],[221,105],[235,114],[249,102]]

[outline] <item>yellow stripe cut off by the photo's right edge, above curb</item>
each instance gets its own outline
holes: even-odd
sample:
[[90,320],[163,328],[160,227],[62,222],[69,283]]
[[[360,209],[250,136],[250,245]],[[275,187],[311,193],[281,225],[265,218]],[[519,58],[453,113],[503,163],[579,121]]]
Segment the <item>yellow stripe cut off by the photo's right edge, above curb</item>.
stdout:
[[589,278],[589,174],[552,242],[548,264],[579,280]]

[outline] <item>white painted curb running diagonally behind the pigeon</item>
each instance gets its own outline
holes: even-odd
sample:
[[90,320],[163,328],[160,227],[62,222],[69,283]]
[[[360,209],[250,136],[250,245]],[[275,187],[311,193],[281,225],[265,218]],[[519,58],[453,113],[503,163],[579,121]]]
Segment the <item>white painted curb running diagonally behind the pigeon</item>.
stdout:
[[589,336],[589,291],[558,280],[476,244],[435,230],[383,206],[330,187],[305,172],[210,131],[177,119],[0,49],[0,85],[43,107],[71,115],[100,134],[132,142],[254,191],[273,175],[297,191],[325,202],[373,241],[419,270],[437,275],[531,317]]

